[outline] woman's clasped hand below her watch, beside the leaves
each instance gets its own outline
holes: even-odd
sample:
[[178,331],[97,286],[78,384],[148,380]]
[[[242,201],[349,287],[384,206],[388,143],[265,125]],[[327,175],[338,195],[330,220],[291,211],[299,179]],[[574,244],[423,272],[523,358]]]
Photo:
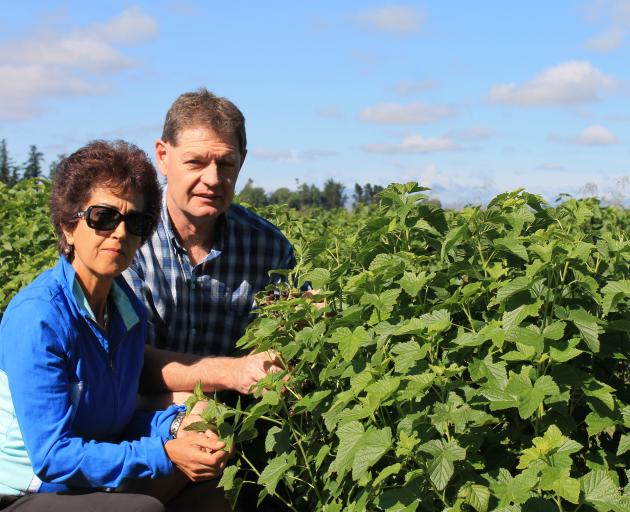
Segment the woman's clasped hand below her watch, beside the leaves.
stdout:
[[214,432],[189,432],[167,441],[164,449],[168,458],[193,482],[216,478],[223,473],[230,453]]

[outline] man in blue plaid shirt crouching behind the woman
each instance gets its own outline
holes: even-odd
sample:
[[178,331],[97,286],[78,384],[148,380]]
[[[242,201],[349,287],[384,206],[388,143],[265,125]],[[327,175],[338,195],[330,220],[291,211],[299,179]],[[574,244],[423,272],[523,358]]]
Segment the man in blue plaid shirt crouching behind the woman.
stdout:
[[160,223],[125,274],[149,312],[145,392],[200,381],[205,391],[248,393],[280,368],[268,353],[232,357],[268,272],[295,264],[275,226],[232,204],[246,146],[243,114],[206,89],[182,94],[166,115],[155,144],[167,182]]

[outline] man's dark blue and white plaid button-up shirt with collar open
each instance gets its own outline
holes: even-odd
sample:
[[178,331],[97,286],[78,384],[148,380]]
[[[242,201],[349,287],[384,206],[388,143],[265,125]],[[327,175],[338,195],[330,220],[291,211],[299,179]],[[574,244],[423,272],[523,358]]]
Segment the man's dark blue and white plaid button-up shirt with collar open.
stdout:
[[147,343],[199,355],[229,355],[252,319],[254,295],[295,265],[280,230],[232,205],[219,218],[210,253],[193,266],[162,207],[153,236],[123,274],[149,316]]

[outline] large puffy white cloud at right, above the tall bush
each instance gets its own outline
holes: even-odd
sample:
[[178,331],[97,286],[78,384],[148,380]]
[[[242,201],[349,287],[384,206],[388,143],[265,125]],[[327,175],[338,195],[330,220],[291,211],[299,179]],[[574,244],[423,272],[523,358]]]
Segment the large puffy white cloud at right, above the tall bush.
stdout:
[[547,69],[523,84],[497,85],[490,100],[516,106],[567,106],[599,100],[600,92],[616,87],[617,81],[590,62],[569,61]]

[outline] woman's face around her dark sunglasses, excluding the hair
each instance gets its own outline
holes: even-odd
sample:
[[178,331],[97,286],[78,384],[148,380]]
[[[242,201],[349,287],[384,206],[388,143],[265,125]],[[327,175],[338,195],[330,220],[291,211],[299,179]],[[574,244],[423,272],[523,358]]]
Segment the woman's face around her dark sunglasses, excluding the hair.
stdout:
[[[110,189],[97,187],[81,208],[102,205],[115,208],[120,213],[144,211],[144,197],[137,192],[117,194]],[[92,229],[85,218],[79,219],[73,231],[65,231],[66,240],[74,245],[72,267],[80,282],[86,286],[97,284],[100,279],[110,280],[125,270],[140,246],[141,238],[121,222],[112,230]]]

